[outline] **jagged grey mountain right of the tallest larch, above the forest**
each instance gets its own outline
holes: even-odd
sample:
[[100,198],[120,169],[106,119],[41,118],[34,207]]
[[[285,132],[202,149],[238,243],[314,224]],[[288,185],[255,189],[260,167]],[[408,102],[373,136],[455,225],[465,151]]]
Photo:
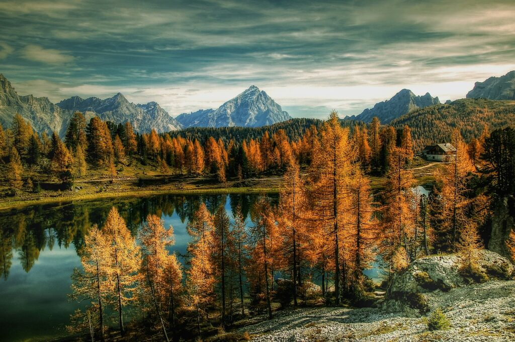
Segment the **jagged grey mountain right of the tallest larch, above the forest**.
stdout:
[[416,96],[410,90],[402,89],[391,99],[378,102],[372,109],[366,109],[361,114],[353,115],[346,119],[371,122],[372,118],[376,116],[381,123],[388,123],[411,111],[434,104],[440,104],[438,97],[432,97],[429,93],[426,93],[424,96]]

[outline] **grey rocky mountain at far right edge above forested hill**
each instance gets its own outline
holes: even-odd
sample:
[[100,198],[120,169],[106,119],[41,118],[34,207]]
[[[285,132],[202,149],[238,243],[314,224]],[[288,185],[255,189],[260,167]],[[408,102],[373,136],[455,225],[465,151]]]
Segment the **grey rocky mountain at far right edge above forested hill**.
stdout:
[[490,100],[515,100],[515,70],[501,77],[490,77],[484,82],[476,82],[467,98],[482,97]]

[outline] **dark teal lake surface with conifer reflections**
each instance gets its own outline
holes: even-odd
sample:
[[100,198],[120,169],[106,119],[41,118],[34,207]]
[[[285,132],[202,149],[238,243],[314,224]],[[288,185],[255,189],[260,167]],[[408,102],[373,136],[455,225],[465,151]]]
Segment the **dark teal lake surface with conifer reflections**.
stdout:
[[[272,203],[278,195],[267,195]],[[190,236],[188,219],[205,203],[212,212],[224,205],[242,207],[250,222],[258,195],[150,196],[32,206],[0,212],[0,340],[26,341],[65,335],[70,314],[80,308],[68,302],[71,274],[80,267],[76,250],[88,229],[102,225],[116,207],[135,234],[149,214],[160,215],[165,227],[172,225],[175,245],[170,251],[186,253]]]

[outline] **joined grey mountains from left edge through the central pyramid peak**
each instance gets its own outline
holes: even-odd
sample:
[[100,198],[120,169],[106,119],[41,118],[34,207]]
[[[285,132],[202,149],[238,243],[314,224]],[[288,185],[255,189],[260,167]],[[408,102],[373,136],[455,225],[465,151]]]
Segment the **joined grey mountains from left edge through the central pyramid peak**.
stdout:
[[291,117],[264,91],[254,85],[216,110],[200,110],[171,117],[157,102],[134,104],[121,93],[107,99],[79,96],[52,103],[46,97],[20,96],[9,80],[0,74],[0,123],[9,127],[19,113],[37,132],[58,132],[64,136],[75,112],[83,113],[87,121],[93,116],[115,123],[129,121],[134,131],[158,133],[188,127],[261,127],[289,120]]

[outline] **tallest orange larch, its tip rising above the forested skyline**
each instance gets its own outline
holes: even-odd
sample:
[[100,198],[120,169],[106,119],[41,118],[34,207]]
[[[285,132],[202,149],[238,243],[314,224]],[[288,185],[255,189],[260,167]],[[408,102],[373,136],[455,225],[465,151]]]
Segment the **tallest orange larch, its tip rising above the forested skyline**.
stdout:
[[342,128],[338,113],[330,118],[320,130],[320,147],[313,155],[310,166],[311,204],[322,231],[328,233],[327,243],[333,248],[334,286],[336,304],[341,298],[341,253],[345,213],[350,208],[348,192],[349,175],[357,157],[355,146],[349,137],[349,129]]

